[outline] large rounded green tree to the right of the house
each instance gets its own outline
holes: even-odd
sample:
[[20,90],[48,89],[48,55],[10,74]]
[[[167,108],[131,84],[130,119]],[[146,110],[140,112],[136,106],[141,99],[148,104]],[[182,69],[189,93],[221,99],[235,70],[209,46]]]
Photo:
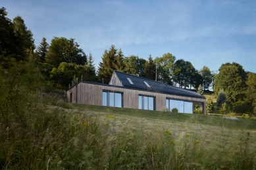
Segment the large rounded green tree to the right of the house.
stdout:
[[243,67],[233,62],[222,64],[218,69],[219,73],[215,80],[215,96],[217,96],[218,91],[223,89],[226,93],[226,97],[232,106],[238,102],[238,100],[243,100],[245,98],[245,81],[246,73]]

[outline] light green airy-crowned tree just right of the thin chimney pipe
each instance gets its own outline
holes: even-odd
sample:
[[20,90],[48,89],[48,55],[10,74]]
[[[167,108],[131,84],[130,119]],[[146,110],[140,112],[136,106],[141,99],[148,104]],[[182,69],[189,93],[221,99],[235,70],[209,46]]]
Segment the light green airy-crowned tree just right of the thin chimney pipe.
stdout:
[[155,64],[157,64],[157,81],[173,85],[172,66],[175,60],[176,57],[170,53],[165,53],[154,59]]

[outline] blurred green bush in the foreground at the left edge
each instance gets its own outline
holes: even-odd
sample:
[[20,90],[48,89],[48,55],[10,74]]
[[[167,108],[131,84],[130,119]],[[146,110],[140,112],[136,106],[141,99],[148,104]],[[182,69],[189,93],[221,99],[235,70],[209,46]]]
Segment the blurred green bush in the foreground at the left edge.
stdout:
[[5,125],[12,121],[26,121],[23,109],[30,102],[30,94],[38,87],[38,69],[30,62],[12,62],[9,69],[0,68],[0,119]]

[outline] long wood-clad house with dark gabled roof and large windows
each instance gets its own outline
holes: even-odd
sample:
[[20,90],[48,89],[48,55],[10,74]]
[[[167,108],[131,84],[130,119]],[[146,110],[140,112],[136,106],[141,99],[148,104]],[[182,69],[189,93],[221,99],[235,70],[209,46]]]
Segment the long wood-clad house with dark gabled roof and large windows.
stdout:
[[157,111],[177,108],[187,114],[193,114],[193,103],[199,103],[206,114],[203,95],[118,71],[113,72],[109,85],[80,81],[66,95],[72,103]]

